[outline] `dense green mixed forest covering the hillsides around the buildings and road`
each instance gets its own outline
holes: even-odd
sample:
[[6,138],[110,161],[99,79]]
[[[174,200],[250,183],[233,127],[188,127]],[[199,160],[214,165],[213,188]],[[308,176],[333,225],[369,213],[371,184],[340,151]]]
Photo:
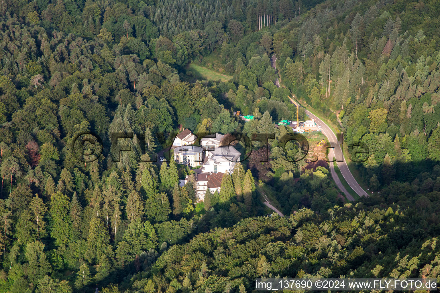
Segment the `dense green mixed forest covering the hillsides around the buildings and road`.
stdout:
[[[439,278],[439,14],[435,0],[0,0],[0,292]],[[209,58],[228,82],[188,69]],[[283,144],[291,93],[368,146],[353,167],[371,196],[347,203],[326,164]],[[275,138],[196,204],[194,170],[156,162],[182,127]],[[102,155],[79,158],[80,134]],[[265,216],[263,192],[286,217]]]

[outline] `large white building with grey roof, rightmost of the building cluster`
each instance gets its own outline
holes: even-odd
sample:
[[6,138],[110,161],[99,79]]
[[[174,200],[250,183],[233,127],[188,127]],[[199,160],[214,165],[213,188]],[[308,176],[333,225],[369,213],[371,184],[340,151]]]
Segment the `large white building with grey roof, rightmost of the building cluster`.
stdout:
[[202,172],[231,174],[235,163],[240,160],[240,155],[240,152],[232,146],[218,147],[205,151]]

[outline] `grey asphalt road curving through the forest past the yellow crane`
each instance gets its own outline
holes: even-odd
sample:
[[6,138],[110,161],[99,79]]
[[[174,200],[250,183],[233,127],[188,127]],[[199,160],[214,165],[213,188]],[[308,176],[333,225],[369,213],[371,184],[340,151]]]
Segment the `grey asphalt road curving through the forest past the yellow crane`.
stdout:
[[[271,58],[271,65],[273,68],[275,68],[276,71],[276,54],[274,54]],[[275,57],[275,58],[274,58]],[[277,73],[277,80],[275,82],[275,85],[277,87],[279,86],[279,80],[278,80],[278,73]],[[298,104],[299,105],[299,104]],[[362,187],[357,183],[356,179],[353,177],[353,174],[350,172],[347,166],[347,162],[345,161],[345,158],[342,153],[341,146],[339,145],[339,141],[336,138],[336,134],[330,129],[330,127],[324,123],[321,119],[319,119],[317,116],[315,116],[312,112],[305,110],[305,113],[310,117],[315,119],[315,123],[319,126],[321,126],[321,130],[323,134],[327,137],[328,141],[330,141],[330,148],[329,151],[329,158],[333,158],[333,156],[337,160],[337,166],[339,167],[339,170],[341,170],[342,176],[344,176],[345,181],[347,181],[348,185],[359,195],[359,196],[368,196],[368,193],[363,190]],[[336,182],[336,185],[339,189],[341,189],[342,192],[345,193],[347,196],[347,199],[349,200],[355,200],[352,195],[350,195],[345,189],[344,185],[342,185],[342,182],[339,180],[339,177],[337,177],[337,174],[334,172],[334,166],[332,163],[329,163],[330,165],[330,172],[332,174],[332,177],[334,181]]]

